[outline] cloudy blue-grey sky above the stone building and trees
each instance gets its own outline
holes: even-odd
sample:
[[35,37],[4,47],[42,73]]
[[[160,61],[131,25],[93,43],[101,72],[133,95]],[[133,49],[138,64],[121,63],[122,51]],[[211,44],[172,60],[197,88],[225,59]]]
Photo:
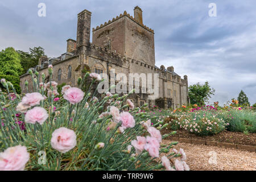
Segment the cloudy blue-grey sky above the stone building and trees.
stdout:
[[[46,17],[38,4],[46,4]],[[209,3],[217,16],[210,17]],[[91,28],[123,13],[143,10],[143,23],[155,31],[156,65],[174,66],[189,85],[209,81],[210,99],[224,104],[242,89],[256,102],[256,1],[254,0],[62,0],[0,2],[0,49],[28,51],[41,46],[49,57],[65,52],[76,39],[77,14],[92,11]],[[92,39],[92,38],[91,38]]]

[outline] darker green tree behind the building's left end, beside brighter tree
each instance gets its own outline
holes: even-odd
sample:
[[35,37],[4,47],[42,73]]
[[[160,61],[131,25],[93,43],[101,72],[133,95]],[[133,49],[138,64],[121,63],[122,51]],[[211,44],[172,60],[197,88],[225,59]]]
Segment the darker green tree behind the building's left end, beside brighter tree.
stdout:
[[20,50],[16,52],[19,53],[20,63],[23,67],[23,72],[21,72],[20,75],[26,73],[29,68],[34,68],[36,65],[38,65],[40,57],[44,56],[44,48],[40,46],[30,48],[30,52],[24,52]]

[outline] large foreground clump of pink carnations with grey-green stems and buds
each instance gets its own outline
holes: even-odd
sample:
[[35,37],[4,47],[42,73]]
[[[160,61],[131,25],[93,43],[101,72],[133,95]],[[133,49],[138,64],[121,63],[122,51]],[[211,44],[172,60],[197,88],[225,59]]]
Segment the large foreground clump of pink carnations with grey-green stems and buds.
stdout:
[[[28,72],[34,92],[23,97],[1,80],[7,93],[0,92],[0,170],[189,170],[183,150],[170,152],[177,142],[161,143],[175,132],[162,136],[160,130],[167,125],[151,126],[151,116],[126,101],[134,90],[121,97],[99,95],[91,88],[103,80],[86,73],[79,77],[78,88],[64,86],[59,98],[52,66],[48,71],[46,84],[44,74],[40,80],[38,72]],[[133,110],[125,111],[127,107]],[[40,151],[46,154],[45,164],[38,163]]]

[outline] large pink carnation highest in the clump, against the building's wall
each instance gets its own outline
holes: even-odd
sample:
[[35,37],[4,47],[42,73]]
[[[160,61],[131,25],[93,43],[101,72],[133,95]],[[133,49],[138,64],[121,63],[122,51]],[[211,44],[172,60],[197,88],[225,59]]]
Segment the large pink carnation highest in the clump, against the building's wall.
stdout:
[[84,98],[84,92],[79,88],[72,87],[64,92],[63,98],[71,104],[77,104]]

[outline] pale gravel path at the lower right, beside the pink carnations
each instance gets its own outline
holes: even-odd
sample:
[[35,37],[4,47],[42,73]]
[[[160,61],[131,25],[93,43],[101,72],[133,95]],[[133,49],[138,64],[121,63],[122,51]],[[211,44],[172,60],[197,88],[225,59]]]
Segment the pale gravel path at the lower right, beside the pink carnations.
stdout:
[[256,171],[256,152],[180,142],[174,148],[184,149],[192,171]]

